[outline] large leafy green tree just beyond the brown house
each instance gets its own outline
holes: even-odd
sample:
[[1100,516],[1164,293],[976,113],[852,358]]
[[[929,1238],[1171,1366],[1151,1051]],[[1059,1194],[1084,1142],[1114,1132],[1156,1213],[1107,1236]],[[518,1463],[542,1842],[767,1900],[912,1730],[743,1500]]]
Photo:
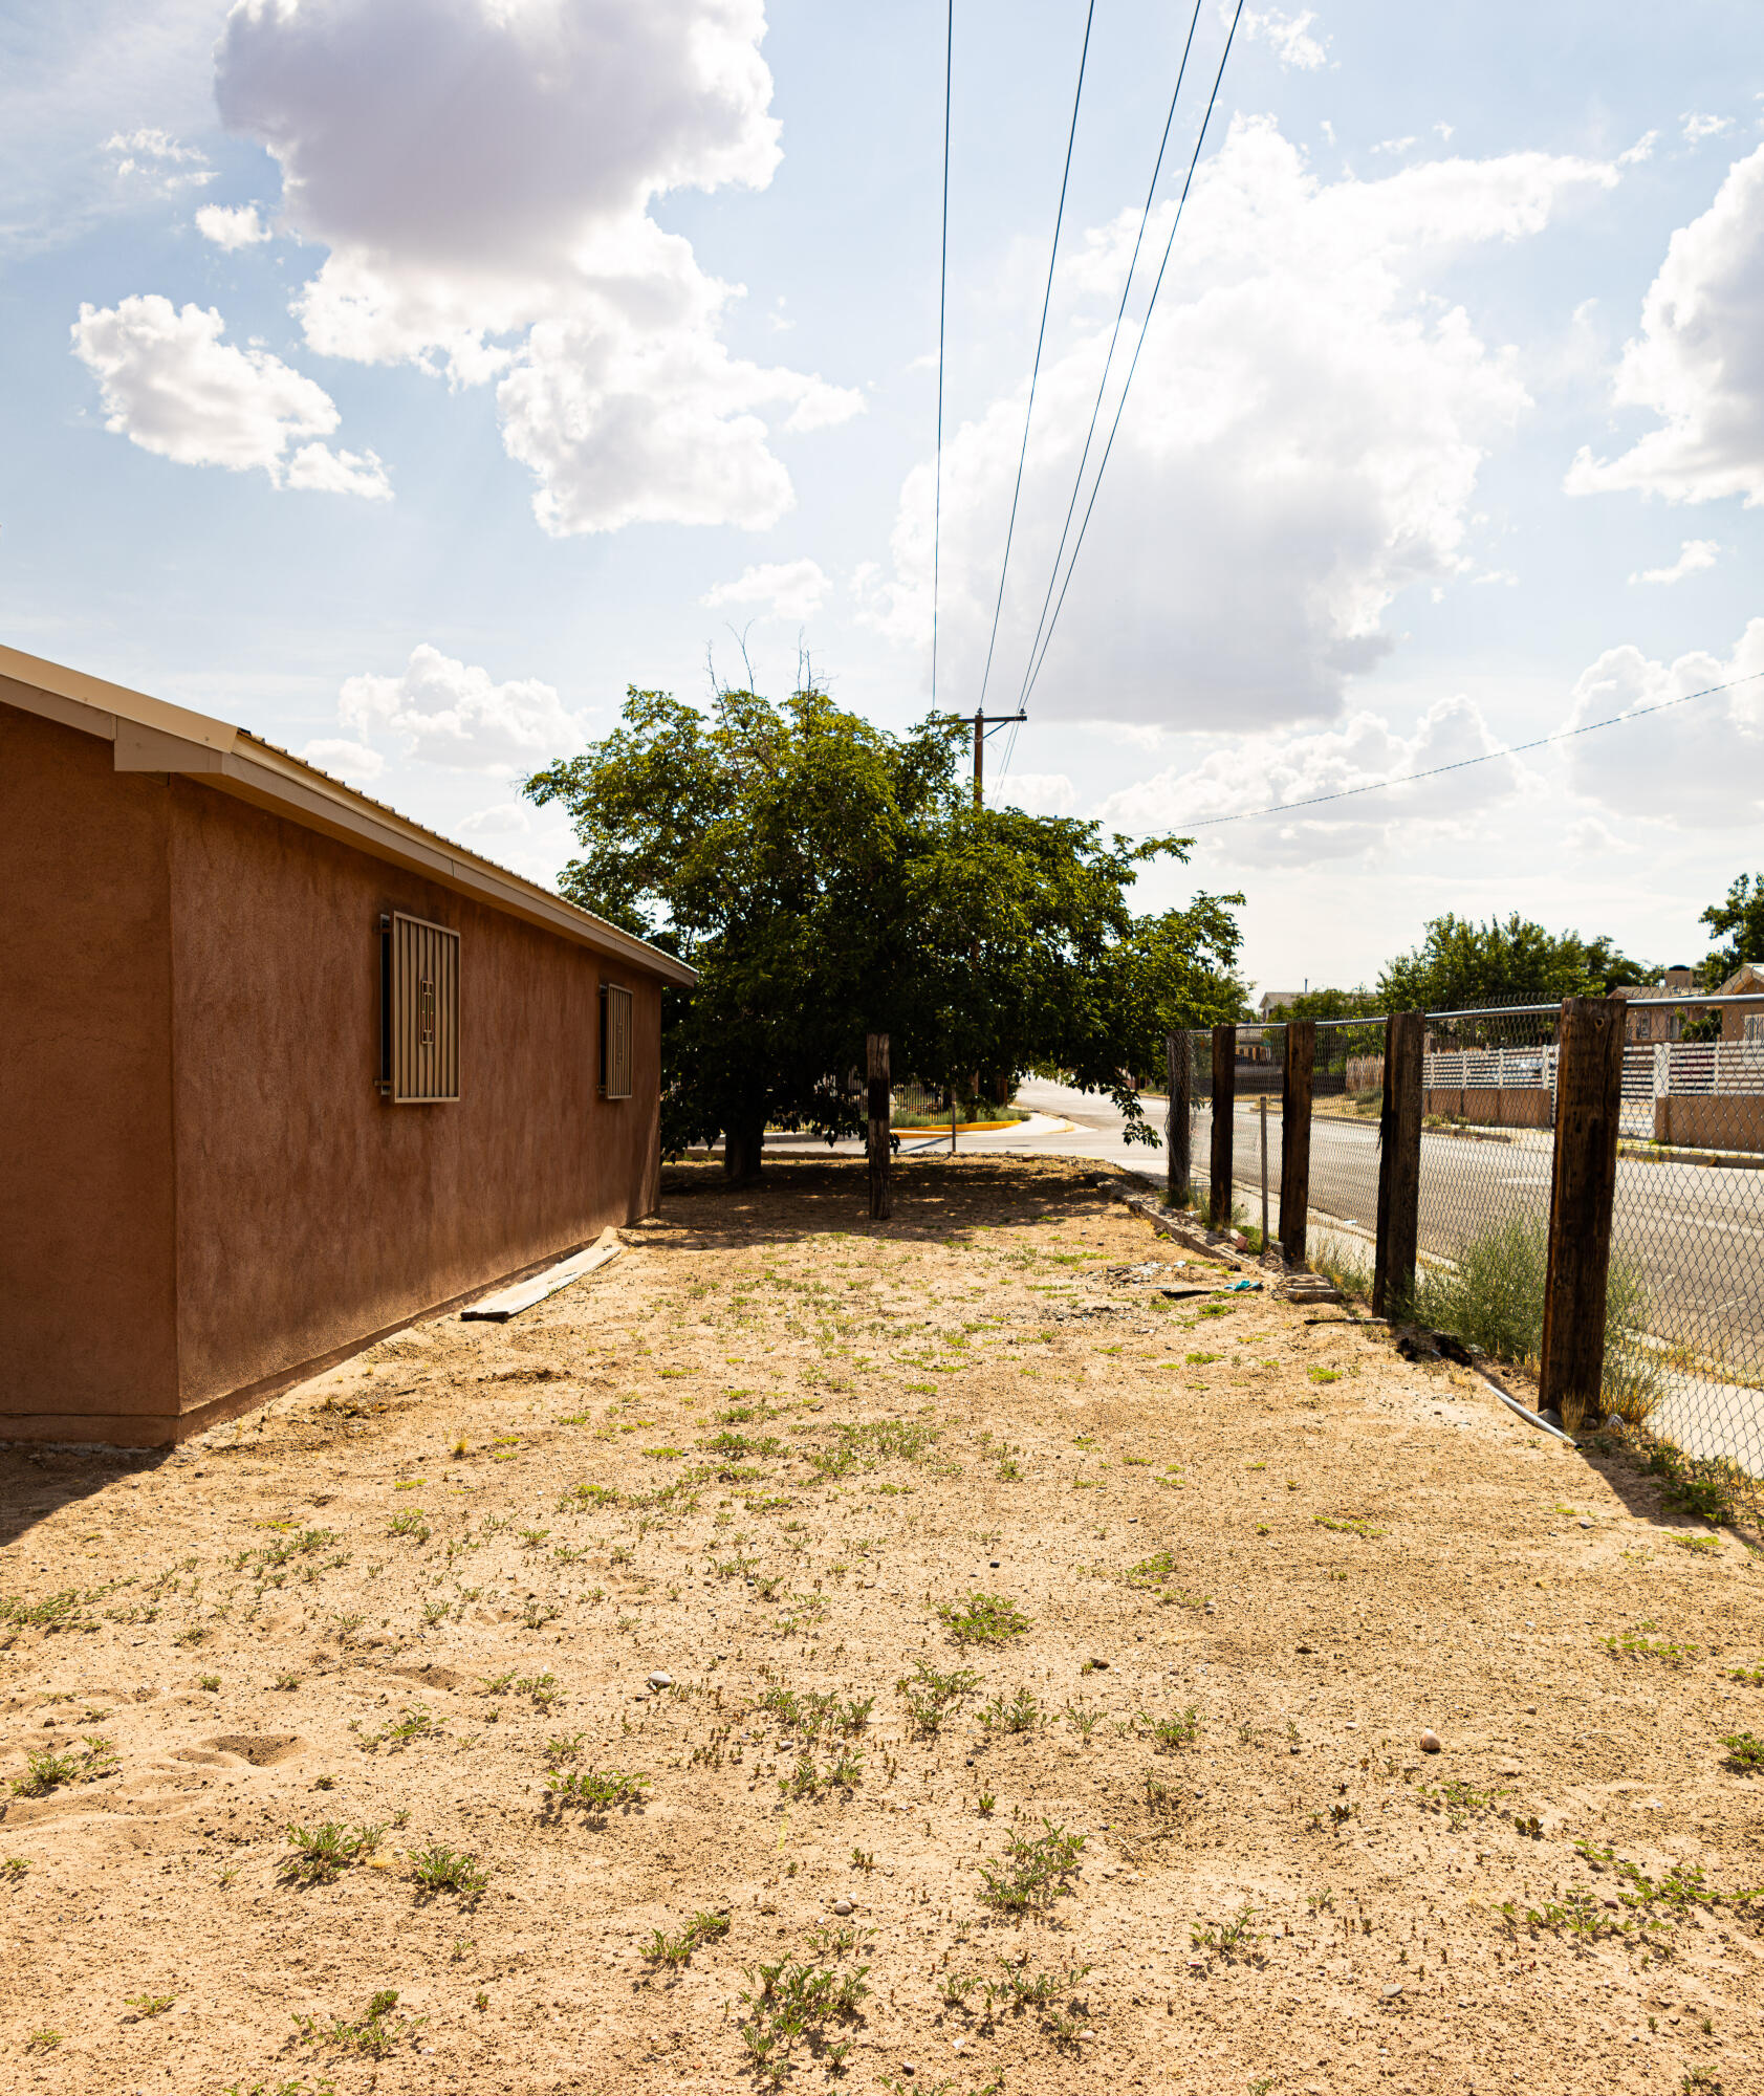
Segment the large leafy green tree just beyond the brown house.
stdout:
[[968,1092],[1060,1065],[1156,1140],[1131,1071],[1163,1033],[1234,1017],[1240,897],[1135,916],[1133,845],[1089,822],[974,809],[968,723],[890,736],[823,692],[723,692],[702,713],[631,690],[620,725],[526,782],[580,840],[559,880],[698,968],[668,991],[662,1140],[725,1138],[758,1167],[767,1126],[857,1132],[867,1031],[897,1077]]

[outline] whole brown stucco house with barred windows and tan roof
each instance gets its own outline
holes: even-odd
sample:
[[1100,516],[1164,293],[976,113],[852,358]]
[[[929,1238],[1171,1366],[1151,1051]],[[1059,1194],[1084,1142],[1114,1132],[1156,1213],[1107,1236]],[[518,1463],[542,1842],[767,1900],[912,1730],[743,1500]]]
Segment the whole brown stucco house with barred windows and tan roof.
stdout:
[[656,1205],[672,956],[0,648],[0,1440],[168,1446]]

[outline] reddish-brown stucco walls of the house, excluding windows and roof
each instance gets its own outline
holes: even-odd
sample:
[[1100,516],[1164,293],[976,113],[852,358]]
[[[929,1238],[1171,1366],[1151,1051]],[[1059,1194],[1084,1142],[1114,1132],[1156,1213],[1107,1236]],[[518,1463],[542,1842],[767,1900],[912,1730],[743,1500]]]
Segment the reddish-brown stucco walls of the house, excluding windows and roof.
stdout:
[[[36,763],[34,960],[6,994],[40,1134],[6,1174],[29,1312],[0,1331],[0,1436],[172,1440],[656,1205],[652,977],[6,719]],[[461,935],[457,1105],[375,1090],[381,910]],[[631,1100],[597,1096],[603,979],[635,991]]]

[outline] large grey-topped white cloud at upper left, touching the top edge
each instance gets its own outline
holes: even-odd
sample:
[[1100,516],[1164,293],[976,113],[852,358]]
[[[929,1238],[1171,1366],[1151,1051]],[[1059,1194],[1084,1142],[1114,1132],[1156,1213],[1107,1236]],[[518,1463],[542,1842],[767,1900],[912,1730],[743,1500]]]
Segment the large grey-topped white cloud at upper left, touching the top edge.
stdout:
[[731,356],[740,287],[649,216],[771,180],[763,34],[763,0],[239,0],[220,113],[329,249],[295,302],[308,344],[497,379],[553,534],[773,524],[794,499],[773,423],[863,400]]

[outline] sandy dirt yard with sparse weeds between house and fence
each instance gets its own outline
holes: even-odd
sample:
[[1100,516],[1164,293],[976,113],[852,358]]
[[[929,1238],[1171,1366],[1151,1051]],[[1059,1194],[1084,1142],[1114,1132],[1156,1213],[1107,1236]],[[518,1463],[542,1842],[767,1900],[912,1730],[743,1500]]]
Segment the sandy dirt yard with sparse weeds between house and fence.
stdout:
[[1737,1538],[1077,1163],[626,1243],[0,1455],[0,2088],[1764,2088]]

